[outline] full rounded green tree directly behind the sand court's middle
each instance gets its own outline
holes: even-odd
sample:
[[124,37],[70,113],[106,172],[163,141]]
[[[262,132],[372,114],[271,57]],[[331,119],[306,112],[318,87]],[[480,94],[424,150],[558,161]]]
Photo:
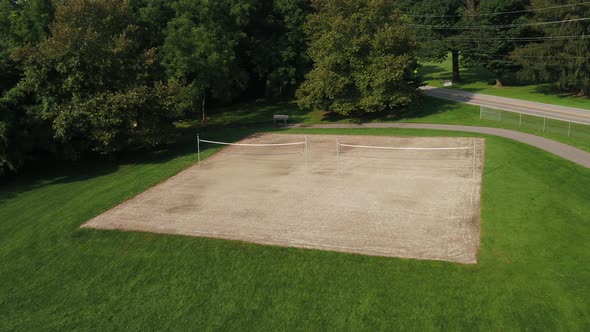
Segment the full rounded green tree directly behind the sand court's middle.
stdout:
[[393,110],[418,96],[416,43],[391,1],[320,0],[306,24],[313,69],[301,107],[340,114]]

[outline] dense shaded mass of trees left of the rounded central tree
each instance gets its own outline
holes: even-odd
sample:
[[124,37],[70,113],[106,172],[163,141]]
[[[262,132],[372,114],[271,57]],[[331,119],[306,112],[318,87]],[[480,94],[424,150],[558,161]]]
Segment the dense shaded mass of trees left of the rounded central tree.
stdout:
[[210,100],[293,95],[310,68],[309,11],[299,0],[0,0],[0,172],[165,143]]

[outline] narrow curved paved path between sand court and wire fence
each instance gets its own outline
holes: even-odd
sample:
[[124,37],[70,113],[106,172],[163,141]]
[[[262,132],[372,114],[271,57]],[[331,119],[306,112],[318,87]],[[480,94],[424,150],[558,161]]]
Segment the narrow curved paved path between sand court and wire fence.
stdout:
[[562,158],[571,160],[576,164],[590,168],[590,153],[574,148],[571,145],[559,143],[547,138],[535,136],[531,134],[521,133],[519,131],[488,128],[488,127],[474,127],[474,126],[457,126],[457,125],[441,125],[441,124],[423,124],[423,123],[365,123],[365,124],[322,124],[322,125],[291,125],[292,128],[411,128],[411,129],[435,129],[435,130],[452,130],[465,131],[470,133],[480,133],[495,136],[502,136],[513,139],[522,143],[526,143],[537,147],[539,149],[551,152]]

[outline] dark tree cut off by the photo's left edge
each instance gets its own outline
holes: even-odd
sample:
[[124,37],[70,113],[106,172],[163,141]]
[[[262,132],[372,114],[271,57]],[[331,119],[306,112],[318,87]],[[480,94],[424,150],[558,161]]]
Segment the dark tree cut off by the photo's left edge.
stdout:
[[21,167],[50,138],[46,123],[28,112],[33,100],[17,86],[22,68],[14,54],[45,40],[53,12],[46,0],[0,0],[0,174]]

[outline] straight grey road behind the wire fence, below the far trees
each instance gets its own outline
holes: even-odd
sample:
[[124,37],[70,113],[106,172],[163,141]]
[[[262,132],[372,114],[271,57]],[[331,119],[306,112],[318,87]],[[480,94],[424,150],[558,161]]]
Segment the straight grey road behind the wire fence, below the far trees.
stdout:
[[[524,112],[539,116],[546,116],[565,121],[575,121],[590,125],[590,110],[581,108],[543,104],[521,99],[505,98],[460,91],[454,89],[425,86],[422,88],[428,96],[458,101],[472,105],[482,105],[514,112]],[[588,102],[590,105],[590,101]]]

